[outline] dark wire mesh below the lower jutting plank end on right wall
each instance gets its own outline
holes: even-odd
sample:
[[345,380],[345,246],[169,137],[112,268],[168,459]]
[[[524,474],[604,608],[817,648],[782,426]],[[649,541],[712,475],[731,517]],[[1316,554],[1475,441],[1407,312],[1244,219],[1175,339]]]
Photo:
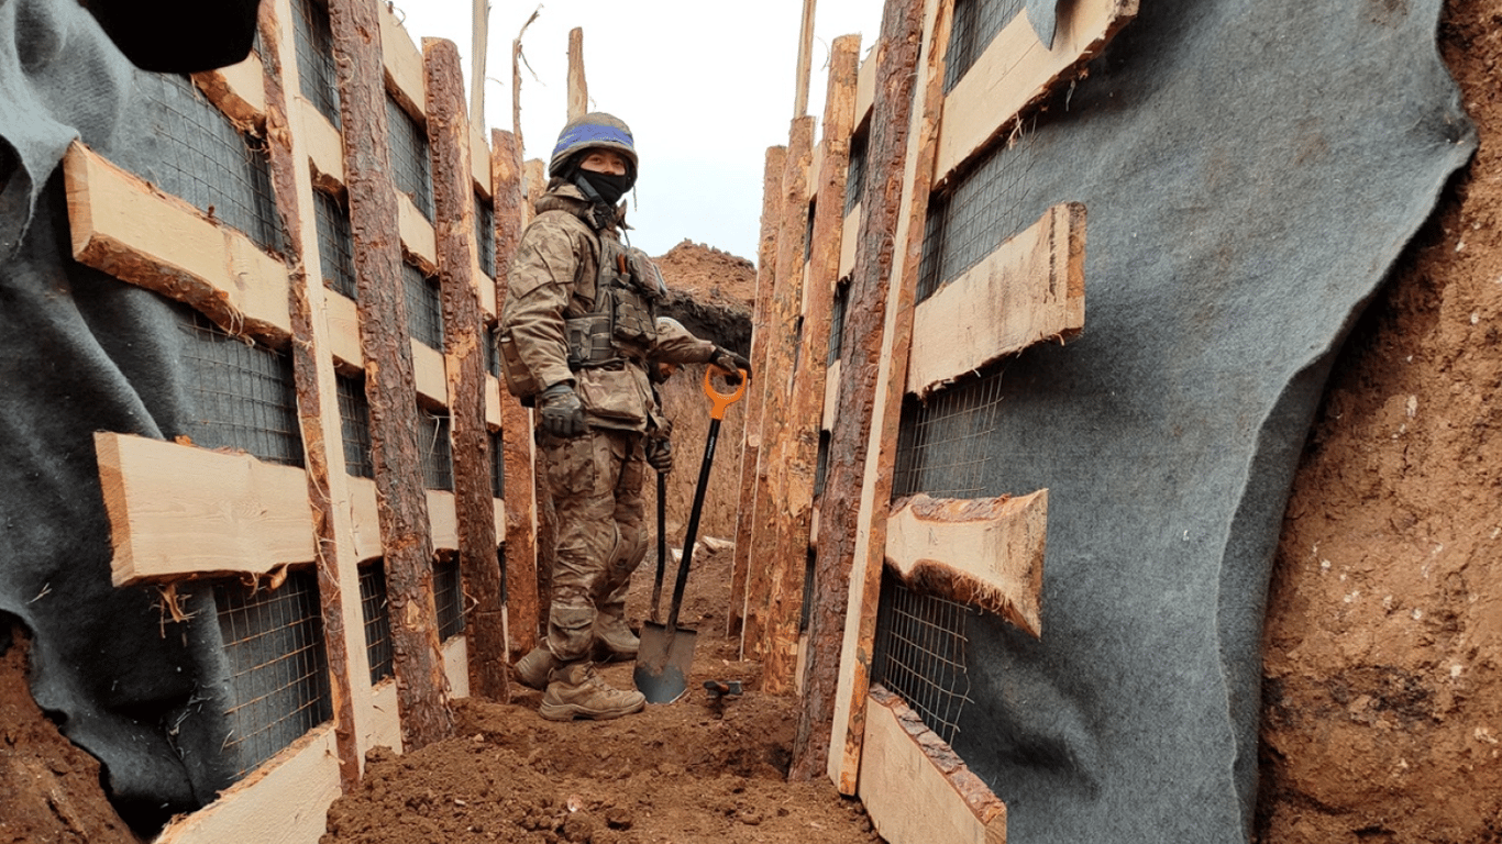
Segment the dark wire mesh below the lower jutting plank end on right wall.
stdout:
[[951,745],[970,703],[966,619],[972,613],[964,604],[915,592],[892,572],[882,572],[873,682],[907,701]]

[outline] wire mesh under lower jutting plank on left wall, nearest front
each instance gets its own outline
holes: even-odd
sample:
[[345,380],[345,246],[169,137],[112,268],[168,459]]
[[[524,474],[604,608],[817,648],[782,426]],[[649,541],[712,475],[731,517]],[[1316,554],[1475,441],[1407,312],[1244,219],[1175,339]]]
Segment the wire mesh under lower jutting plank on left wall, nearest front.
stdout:
[[275,590],[218,583],[213,598],[230,665],[224,749],[240,778],[332,716],[318,584],[294,571]]

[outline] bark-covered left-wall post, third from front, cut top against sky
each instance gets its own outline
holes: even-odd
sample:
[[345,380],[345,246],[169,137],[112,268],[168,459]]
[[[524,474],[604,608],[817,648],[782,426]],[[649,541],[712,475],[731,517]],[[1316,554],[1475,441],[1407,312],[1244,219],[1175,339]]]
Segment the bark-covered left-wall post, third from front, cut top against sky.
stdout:
[[[443,369],[454,439],[454,506],[460,572],[475,605],[466,620],[470,694],[508,700],[506,626],[496,560],[496,505],[485,428],[485,350],[475,278],[475,186],[470,176],[464,77],[452,41],[422,39],[427,71],[428,149],[443,299]],[[487,284],[490,284],[487,281]]]

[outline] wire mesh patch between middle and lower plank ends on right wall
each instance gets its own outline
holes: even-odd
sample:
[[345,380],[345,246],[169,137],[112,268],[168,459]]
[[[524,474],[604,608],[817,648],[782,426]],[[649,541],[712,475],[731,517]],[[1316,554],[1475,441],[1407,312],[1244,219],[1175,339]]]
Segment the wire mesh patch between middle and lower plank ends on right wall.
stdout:
[[1002,404],[1000,368],[957,383],[921,402],[903,404],[892,497],[928,493],[945,499],[991,494],[987,448]]

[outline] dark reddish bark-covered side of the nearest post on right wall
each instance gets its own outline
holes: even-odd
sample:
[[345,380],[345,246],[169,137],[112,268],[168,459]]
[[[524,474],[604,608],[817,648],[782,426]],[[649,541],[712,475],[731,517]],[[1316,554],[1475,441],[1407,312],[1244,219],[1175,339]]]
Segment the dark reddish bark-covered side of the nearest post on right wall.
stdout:
[[[868,650],[852,653],[846,649],[846,628],[850,613],[859,616],[859,623],[867,620],[865,595],[852,595],[852,577],[859,580],[864,590],[868,574],[865,557],[856,553],[864,551],[858,547],[859,529],[861,524],[874,526],[873,509],[886,506],[870,490],[874,482],[868,478],[867,452],[879,372],[891,365],[891,359],[883,360],[883,353],[895,354],[886,336],[888,285],[904,207],[904,173],[922,23],[924,0],[886,0],[877,44],[877,89],[867,147],[867,183],[861,201],[861,242],[846,309],[844,336],[849,342],[840,366],[840,425],[831,431],[829,466],[819,515],[816,599],[808,638],[808,658],[817,665],[810,665],[805,676],[814,683],[826,682],[831,674],[826,664],[834,659],[840,665],[835,671],[840,680],[834,695],[822,686],[805,689],[799,733],[807,734],[808,745],[804,748],[799,773],[817,770],[817,745],[826,736],[832,748],[840,749],[838,755],[828,758],[826,770],[844,794],[856,791],[856,763],[865,728],[865,689],[871,667]],[[907,248],[906,242],[903,248]],[[906,353],[903,345],[901,354]],[[889,478],[886,485],[891,485]],[[870,547],[880,550],[874,541]],[[850,574],[852,566],[859,566],[858,574]],[[874,617],[870,620],[874,623]]]

